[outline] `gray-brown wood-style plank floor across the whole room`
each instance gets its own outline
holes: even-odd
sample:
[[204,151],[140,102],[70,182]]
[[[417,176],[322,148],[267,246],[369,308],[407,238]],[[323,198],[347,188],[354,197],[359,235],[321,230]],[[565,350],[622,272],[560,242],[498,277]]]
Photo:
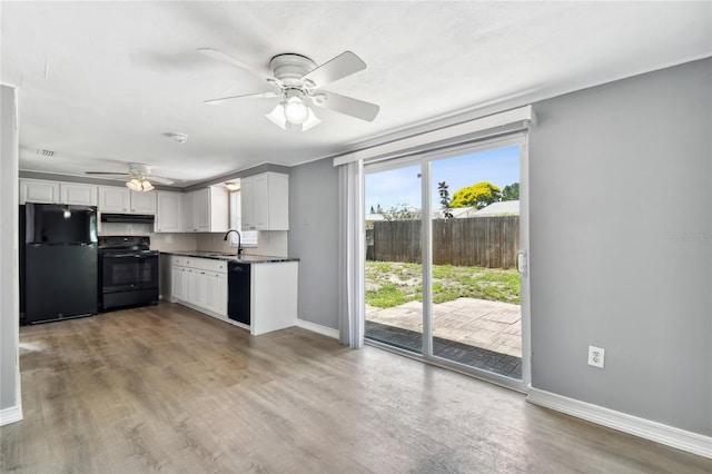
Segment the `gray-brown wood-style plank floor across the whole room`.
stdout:
[[20,328],[3,473],[710,473],[712,460],[299,328],[175,304]]

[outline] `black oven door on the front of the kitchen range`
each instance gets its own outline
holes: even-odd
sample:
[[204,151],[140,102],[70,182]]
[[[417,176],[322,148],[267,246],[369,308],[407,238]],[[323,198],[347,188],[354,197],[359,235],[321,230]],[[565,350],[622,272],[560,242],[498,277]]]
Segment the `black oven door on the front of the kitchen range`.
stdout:
[[157,254],[103,254],[100,260],[103,294],[158,289]]

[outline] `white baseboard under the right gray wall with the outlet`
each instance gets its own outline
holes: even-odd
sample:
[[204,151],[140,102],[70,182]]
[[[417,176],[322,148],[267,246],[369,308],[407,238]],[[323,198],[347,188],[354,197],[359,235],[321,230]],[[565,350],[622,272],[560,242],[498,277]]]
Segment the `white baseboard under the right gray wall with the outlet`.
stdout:
[[626,413],[604,408],[599,405],[537,388],[530,389],[526,401],[666,446],[712,458],[712,437],[710,436],[675,428],[662,423],[640,418]]

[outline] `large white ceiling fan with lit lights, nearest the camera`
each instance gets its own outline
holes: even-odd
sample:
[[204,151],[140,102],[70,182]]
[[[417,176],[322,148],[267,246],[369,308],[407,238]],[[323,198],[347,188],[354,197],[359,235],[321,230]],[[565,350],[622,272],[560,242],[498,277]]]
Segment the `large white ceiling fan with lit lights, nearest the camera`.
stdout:
[[199,48],[201,53],[248,71],[265,79],[273,90],[243,96],[206,100],[205,103],[222,103],[233,99],[281,98],[266,117],[276,126],[290,131],[306,131],[322,122],[312,106],[322,107],[373,121],[380,109],[375,103],[340,96],[322,89],[327,83],[366,69],[366,63],[355,53],[345,51],[322,66],[306,56],[277,55],[269,61],[269,70],[263,70],[212,48]]

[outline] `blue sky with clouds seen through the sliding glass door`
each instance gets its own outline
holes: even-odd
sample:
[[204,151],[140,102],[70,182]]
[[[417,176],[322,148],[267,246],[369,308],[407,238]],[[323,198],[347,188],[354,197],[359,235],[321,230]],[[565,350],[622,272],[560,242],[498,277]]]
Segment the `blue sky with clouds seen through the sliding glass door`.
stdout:
[[[494,148],[474,154],[459,155],[432,162],[433,208],[439,209],[437,184],[447,182],[451,198],[461,188],[479,181],[490,181],[504,189],[520,182],[520,146]],[[383,210],[393,207],[419,209],[421,166],[407,166],[385,171],[366,174],[366,213],[380,205]]]

